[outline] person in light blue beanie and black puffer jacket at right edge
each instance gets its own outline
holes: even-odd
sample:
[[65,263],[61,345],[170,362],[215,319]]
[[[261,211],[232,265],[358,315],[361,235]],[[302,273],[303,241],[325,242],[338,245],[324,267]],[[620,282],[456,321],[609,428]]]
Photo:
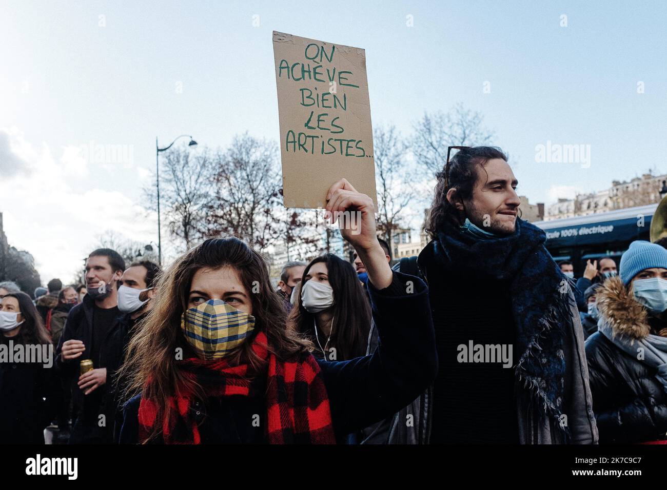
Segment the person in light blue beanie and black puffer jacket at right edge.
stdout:
[[634,241],[596,291],[586,340],[600,444],[667,444],[667,250]]

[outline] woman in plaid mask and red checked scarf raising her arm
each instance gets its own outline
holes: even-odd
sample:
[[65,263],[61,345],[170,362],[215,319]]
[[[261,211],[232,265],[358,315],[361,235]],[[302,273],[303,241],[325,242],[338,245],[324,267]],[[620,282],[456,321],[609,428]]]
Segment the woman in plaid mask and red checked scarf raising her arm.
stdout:
[[342,180],[329,198],[334,218],[346,209],[362,217],[361,233],[342,235],[368,269],[378,351],[317,361],[313,344],[286,327],[263,257],[236,238],[208,239],[165,271],[129,344],[121,443],[336,443],[432,383],[426,285],[391,271],[368,196]]

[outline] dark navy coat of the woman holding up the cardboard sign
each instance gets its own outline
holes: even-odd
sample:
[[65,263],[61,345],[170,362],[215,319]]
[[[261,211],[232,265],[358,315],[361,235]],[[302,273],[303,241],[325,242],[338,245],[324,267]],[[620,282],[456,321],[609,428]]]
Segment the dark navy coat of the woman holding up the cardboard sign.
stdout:
[[[406,295],[406,281],[414,293]],[[336,439],[368,427],[412,402],[438,371],[428,289],[415,277],[394,272],[394,281],[378,291],[369,285],[373,317],[380,345],[373,355],[350,361],[317,361],[327,389]],[[121,443],[137,443],[140,395],[125,405]],[[202,441],[218,443],[263,442],[265,402],[248,397],[198,401],[191,407]],[[208,417],[206,416],[208,413]],[[250,423],[260,415],[259,427]]]

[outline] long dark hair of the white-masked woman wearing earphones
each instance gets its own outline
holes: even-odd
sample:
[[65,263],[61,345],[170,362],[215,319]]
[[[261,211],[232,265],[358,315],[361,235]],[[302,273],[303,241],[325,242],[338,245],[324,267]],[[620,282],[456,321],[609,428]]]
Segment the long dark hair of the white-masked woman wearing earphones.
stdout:
[[[307,281],[305,276],[310,268],[318,262],[327,265],[329,285],[333,289],[331,308],[334,314],[330,342],[332,347],[336,347],[336,361],[348,361],[366,355],[372,315],[366,291],[354,267],[333,253],[315,257],[303,270],[301,287]],[[314,342],[315,315],[308,313],[303,307],[300,291],[299,289],[296,304],[289,313],[288,324],[291,329],[295,329]]]

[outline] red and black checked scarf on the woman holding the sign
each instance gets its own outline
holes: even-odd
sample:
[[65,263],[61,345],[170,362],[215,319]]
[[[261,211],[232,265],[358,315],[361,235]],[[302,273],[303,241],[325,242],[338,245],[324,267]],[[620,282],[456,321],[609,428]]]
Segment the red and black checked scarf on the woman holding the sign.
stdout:
[[[334,444],[329,398],[319,365],[310,353],[301,353],[293,361],[278,361],[266,348],[263,332],[253,339],[253,350],[268,361],[265,391],[267,442],[269,444]],[[225,359],[203,361],[184,359],[179,367],[211,397],[230,395],[257,396],[257,383],[244,379],[247,365],[230,367]],[[166,444],[199,444],[199,427],[190,409],[192,393],[171,397],[170,420],[156,421],[157,405],[141,398],[139,403],[139,439],[144,440],[155,423],[162,424]]]

